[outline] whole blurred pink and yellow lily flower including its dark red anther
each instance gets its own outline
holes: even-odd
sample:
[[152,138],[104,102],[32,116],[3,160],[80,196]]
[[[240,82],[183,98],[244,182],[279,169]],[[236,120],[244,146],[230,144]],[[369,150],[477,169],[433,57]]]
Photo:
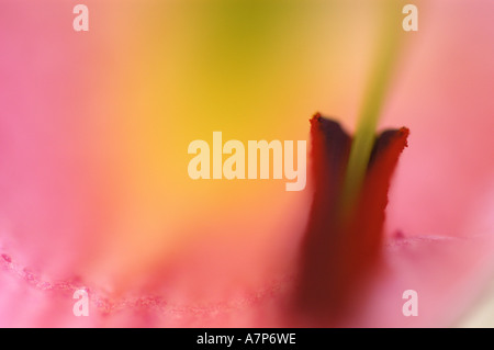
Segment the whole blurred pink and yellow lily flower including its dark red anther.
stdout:
[[[87,0],[88,33],[67,1],[1,2],[0,326],[476,324],[494,274],[494,4],[420,5],[400,79],[375,69],[362,134],[305,120],[353,115],[367,1],[200,2]],[[307,190],[182,180],[183,145],[223,125],[310,131]]]

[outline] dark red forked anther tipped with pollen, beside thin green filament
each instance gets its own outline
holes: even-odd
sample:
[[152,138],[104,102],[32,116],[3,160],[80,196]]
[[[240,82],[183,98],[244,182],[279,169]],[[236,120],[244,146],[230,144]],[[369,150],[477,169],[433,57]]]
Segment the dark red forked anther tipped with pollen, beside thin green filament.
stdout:
[[[388,191],[408,129],[377,137],[363,185],[353,205],[343,205],[351,137],[332,120],[311,120],[311,181],[314,197],[304,233],[294,292],[299,315],[315,324],[348,315],[382,247]],[[350,302],[351,300],[351,302]]]

